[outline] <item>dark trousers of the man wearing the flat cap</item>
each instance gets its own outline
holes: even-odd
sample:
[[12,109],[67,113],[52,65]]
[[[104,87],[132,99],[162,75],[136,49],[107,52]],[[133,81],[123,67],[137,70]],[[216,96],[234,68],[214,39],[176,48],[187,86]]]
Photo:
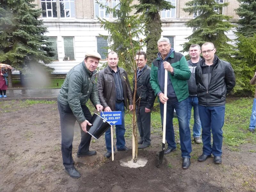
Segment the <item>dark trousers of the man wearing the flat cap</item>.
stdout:
[[[90,121],[92,115],[89,109],[83,105],[84,116],[86,120]],[[63,165],[67,168],[74,166],[74,160],[72,157],[72,142],[74,138],[74,126],[76,123],[76,117],[74,116],[71,108],[68,105],[63,105],[58,101],[58,109],[60,113],[60,129],[61,129],[61,153]],[[81,142],[78,147],[77,153],[83,154],[89,151],[92,136],[89,133],[85,133],[80,127]]]

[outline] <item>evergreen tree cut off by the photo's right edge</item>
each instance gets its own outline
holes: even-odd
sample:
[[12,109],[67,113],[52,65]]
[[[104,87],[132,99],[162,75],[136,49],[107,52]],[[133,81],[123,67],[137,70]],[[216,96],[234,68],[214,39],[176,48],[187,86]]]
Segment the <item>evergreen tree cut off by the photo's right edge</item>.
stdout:
[[238,54],[236,58],[240,61],[241,68],[238,76],[243,82],[242,89],[238,92],[241,95],[254,94],[255,87],[249,84],[256,70],[256,0],[238,0],[240,3],[236,9],[239,15],[238,26],[236,27],[236,45]]

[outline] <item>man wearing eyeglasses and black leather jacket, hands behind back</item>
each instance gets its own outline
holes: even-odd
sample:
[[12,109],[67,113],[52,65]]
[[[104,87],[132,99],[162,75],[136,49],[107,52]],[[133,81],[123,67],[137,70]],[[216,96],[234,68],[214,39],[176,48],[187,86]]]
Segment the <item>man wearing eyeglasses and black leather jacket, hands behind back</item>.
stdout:
[[211,42],[204,43],[201,49],[204,58],[196,68],[196,84],[204,146],[198,161],[205,161],[213,154],[214,163],[221,164],[226,95],[236,85],[236,79],[231,64],[214,54],[216,49]]

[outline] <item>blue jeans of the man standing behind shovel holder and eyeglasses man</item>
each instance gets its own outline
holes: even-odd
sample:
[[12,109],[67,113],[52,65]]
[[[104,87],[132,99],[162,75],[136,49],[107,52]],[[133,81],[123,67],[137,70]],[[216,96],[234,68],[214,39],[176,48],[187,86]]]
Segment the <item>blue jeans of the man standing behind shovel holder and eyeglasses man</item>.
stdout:
[[196,96],[188,96],[188,125],[190,124],[192,108],[194,108],[193,137],[200,137],[201,121],[198,113],[198,98]]

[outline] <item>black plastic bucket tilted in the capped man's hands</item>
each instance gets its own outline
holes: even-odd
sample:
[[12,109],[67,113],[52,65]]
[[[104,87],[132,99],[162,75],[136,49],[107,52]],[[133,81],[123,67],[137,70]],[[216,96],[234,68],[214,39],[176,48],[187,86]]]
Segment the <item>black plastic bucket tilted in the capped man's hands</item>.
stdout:
[[87,125],[86,130],[95,139],[99,139],[100,136],[103,135],[103,133],[105,133],[111,126],[106,120],[96,113],[93,114],[90,123],[92,125]]

